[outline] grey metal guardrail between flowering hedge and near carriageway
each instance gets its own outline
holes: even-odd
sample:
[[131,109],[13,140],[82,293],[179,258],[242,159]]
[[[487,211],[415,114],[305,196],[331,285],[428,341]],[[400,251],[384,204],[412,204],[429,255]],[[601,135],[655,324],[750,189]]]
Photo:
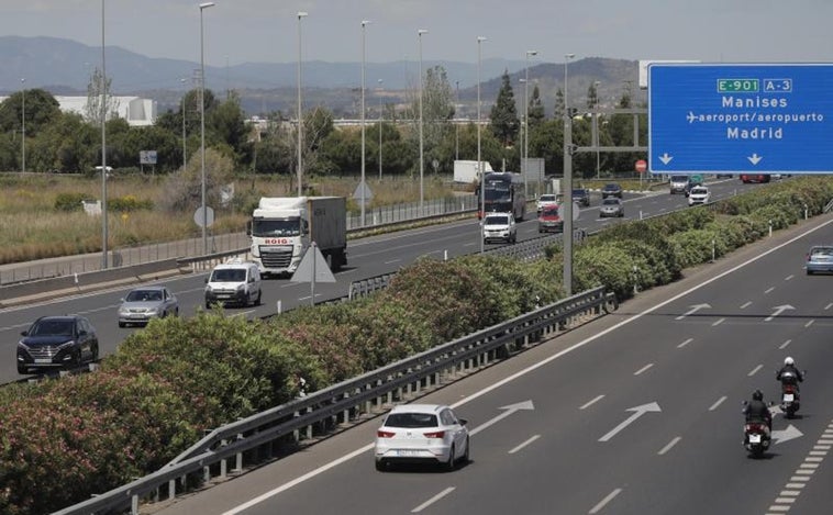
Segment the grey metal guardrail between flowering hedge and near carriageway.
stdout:
[[[397,402],[406,402],[456,381],[540,343],[546,336],[566,331],[574,321],[615,309],[614,302],[600,287],[224,425],[163,469],[54,515],[127,510],[137,515],[142,500],[174,499],[193,482],[207,483],[214,477],[242,472],[247,466],[270,459],[277,446],[311,441],[332,433],[338,424],[375,416]],[[231,470],[230,460],[234,462]]]

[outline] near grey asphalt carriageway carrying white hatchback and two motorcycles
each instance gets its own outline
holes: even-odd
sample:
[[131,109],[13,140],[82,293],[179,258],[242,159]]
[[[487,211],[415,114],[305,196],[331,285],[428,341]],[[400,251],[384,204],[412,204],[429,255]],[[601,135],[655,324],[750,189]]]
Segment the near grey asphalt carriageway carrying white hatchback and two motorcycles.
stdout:
[[[829,513],[831,277],[802,261],[830,240],[819,216],[421,399],[469,421],[456,471],[375,471],[377,418],[156,513]],[[777,400],[788,355],[809,369],[801,411],[752,459],[741,402]]]

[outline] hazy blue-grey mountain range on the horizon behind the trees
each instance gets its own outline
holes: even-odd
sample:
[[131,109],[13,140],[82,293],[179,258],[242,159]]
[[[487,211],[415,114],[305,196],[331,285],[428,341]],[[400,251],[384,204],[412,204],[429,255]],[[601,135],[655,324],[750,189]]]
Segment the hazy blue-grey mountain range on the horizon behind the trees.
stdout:
[[[321,104],[336,115],[351,117],[359,111],[362,64],[303,61],[302,88],[306,104]],[[423,71],[442,66],[464,108],[476,103],[478,66],[471,63],[424,60]],[[522,100],[523,79],[529,71],[531,85],[537,85],[547,111],[555,93],[564,87],[564,63],[531,61],[529,70],[522,59],[484,59],[480,63],[480,97],[490,105],[501,87],[503,72],[510,74],[513,91]],[[55,37],[0,36],[0,94],[23,88],[42,88],[53,94],[86,96],[87,85],[101,68],[101,47]],[[366,102],[374,105],[407,100],[407,92],[419,83],[419,61],[365,63]],[[188,60],[151,58],[118,46],[105,48],[105,71],[112,80],[111,91],[137,96],[158,102],[159,112],[176,109],[182,93],[199,85],[200,64]],[[206,87],[221,93],[236,91],[249,114],[293,111],[297,101],[298,63],[246,63],[206,66]],[[588,57],[568,65],[568,92],[571,104],[584,103],[587,90],[599,82],[602,103],[612,104],[625,89],[638,100],[638,63],[635,60]],[[22,80],[22,79],[25,79]],[[531,89],[530,89],[531,91]],[[382,97],[384,92],[384,97]],[[376,97],[373,97],[376,94]],[[373,98],[368,98],[373,97]]]

